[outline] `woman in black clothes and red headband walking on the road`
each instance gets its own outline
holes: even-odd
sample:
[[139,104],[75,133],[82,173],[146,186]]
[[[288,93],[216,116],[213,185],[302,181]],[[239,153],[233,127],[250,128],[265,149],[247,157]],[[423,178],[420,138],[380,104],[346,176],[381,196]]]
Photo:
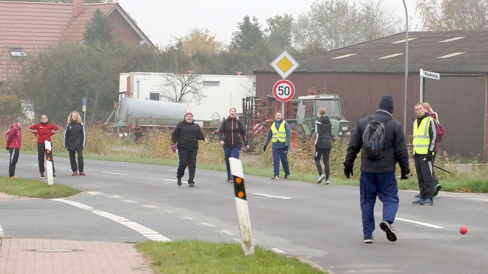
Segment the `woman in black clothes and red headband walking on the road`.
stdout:
[[195,171],[197,170],[198,140],[209,142],[202,133],[200,126],[193,122],[193,114],[187,112],[183,122],[176,125],[171,134],[171,150],[178,150],[178,169],[176,171],[177,185],[181,186],[181,178],[188,166],[188,186],[195,186]]

